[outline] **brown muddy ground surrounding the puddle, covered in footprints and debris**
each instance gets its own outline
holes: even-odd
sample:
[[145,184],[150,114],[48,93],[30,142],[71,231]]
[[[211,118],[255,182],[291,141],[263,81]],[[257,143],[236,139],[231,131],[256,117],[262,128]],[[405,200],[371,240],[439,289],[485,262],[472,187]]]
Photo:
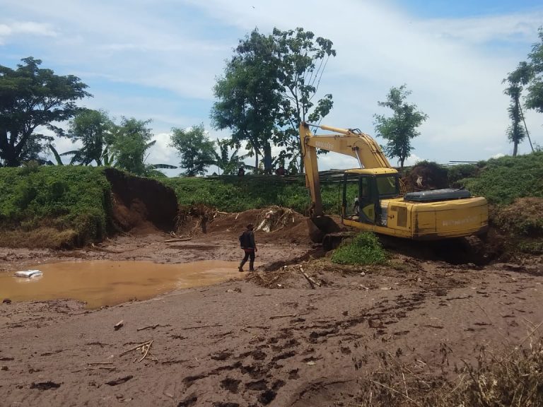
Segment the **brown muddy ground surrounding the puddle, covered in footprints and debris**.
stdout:
[[[0,248],[0,269],[236,260],[240,228],[261,218],[218,216],[206,234],[187,223],[192,238],[182,242],[144,228],[73,251]],[[541,257],[475,266],[395,254],[391,266],[334,266],[306,232],[294,216],[257,232],[267,266],[241,281],[95,310],[71,300],[0,304],[0,405],[356,406],[374,396],[368,378],[385,366],[454,379],[481,347],[539,336],[526,340],[543,321]],[[129,351],[148,341],[147,355]]]

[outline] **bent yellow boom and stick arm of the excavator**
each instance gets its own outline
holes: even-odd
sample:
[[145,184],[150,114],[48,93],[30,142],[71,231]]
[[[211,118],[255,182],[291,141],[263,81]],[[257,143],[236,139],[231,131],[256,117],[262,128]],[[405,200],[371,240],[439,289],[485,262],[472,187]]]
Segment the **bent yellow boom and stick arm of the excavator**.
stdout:
[[[310,126],[331,131],[332,133],[315,136],[311,133]],[[317,148],[350,155],[358,160],[358,165],[361,168],[392,168],[378,143],[371,136],[362,133],[358,129],[338,129],[331,126],[317,126],[316,124],[301,122],[299,134],[303,165],[305,167],[305,187],[310,190],[314,216],[322,216],[323,214]]]

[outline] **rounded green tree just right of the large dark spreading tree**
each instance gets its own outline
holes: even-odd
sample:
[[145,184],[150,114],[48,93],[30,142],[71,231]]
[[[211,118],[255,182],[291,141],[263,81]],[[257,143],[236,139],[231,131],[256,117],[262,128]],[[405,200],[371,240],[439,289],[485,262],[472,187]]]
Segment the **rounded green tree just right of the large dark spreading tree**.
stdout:
[[[83,146],[74,151],[72,162],[89,165],[103,165],[104,154],[113,142],[116,126],[103,110],[85,109],[69,123],[68,136],[72,141],[80,141]],[[107,158],[106,158],[107,160]]]

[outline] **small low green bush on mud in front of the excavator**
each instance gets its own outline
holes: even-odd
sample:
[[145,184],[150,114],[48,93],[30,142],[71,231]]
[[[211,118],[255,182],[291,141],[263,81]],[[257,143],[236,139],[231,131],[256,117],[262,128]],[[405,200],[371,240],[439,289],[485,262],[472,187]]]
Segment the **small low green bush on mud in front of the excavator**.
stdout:
[[387,253],[372,232],[362,232],[351,240],[341,242],[332,253],[332,263],[385,264]]

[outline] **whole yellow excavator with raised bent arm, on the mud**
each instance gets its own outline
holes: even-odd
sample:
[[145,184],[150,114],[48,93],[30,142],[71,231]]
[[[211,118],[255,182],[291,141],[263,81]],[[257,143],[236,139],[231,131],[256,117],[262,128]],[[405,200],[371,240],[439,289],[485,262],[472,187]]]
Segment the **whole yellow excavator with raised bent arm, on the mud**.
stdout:
[[[329,133],[314,135],[310,126]],[[341,204],[344,225],[414,240],[466,237],[484,234],[488,229],[486,199],[472,196],[465,189],[405,193],[397,170],[368,134],[358,129],[338,129],[305,122],[300,123],[299,134],[305,185],[310,189],[312,200],[311,223],[321,231],[315,233],[315,228],[310,225],[313,240],[321,240],[326,232],[336,231],[330,227],[331,219],[322,212],[317,148],[350,155],[360,165],[360,168],[344,172]]]

